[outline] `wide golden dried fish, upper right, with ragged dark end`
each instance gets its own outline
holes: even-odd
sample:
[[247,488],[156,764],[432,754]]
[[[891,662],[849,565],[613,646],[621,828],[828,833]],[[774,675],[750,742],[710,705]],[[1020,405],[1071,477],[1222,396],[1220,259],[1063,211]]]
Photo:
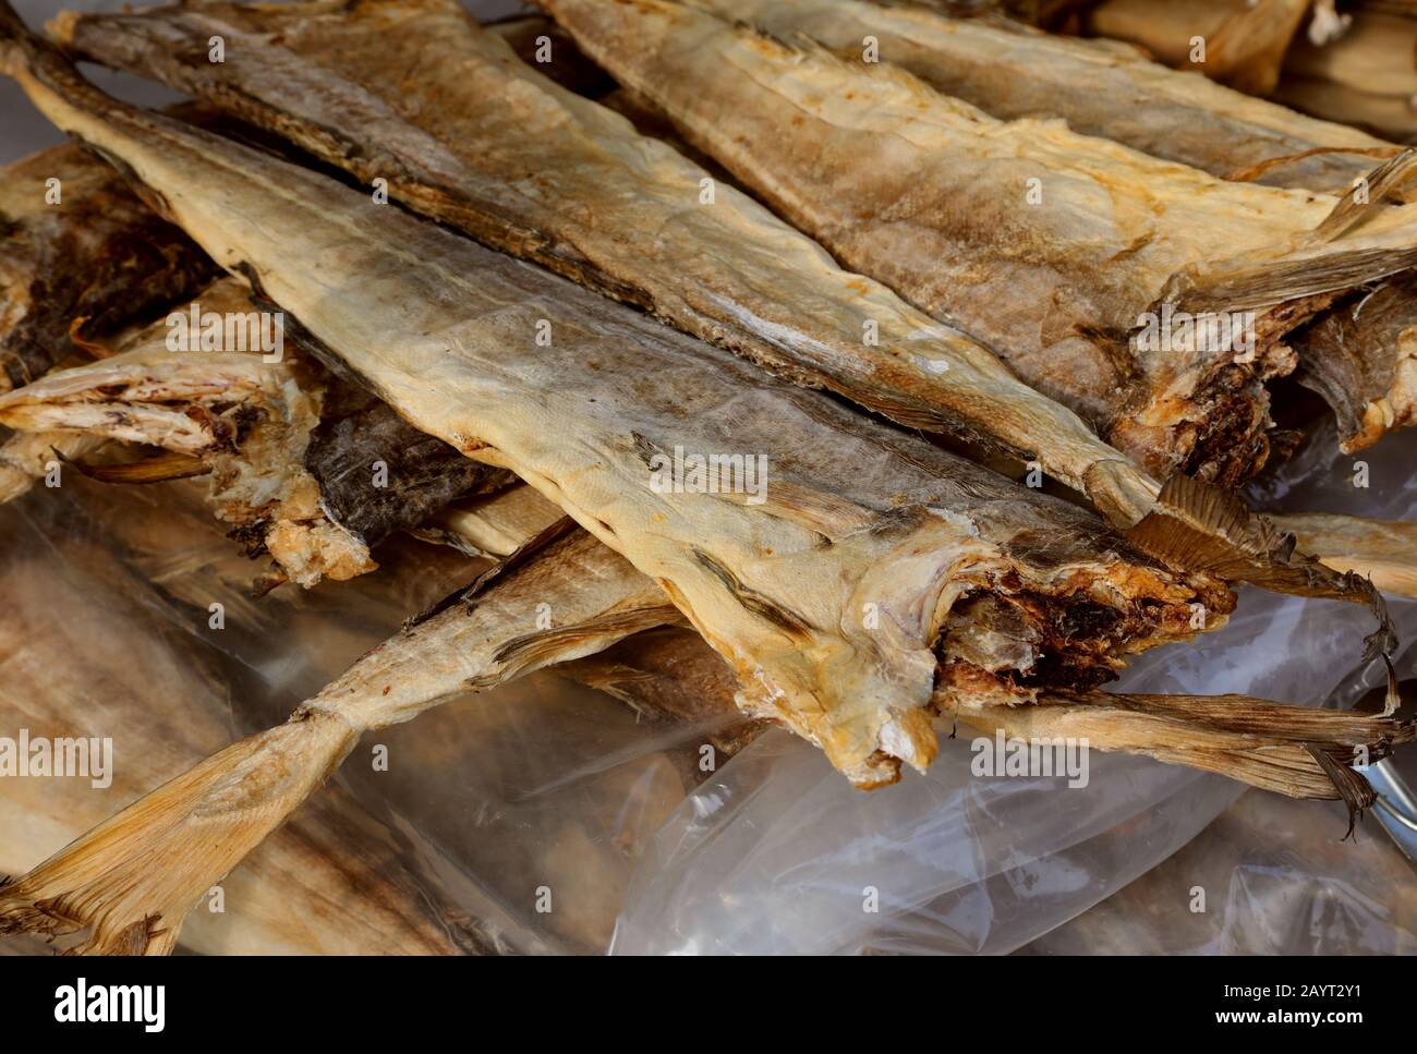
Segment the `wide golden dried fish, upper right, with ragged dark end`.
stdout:
[[[1155,477],[1251,475],[1268,450],[1263,381],[1294,367],[1284,333],[1417,261],[1403,248],[1411,207],[1359,214],[1352,198],[1219,181],[1061,122],[998,122],[884,62],[679,4],[547,8],[779,214],[999,350]],[[1146,316],[1168,303],[1253,323],[1253,350],[1148,347]]]

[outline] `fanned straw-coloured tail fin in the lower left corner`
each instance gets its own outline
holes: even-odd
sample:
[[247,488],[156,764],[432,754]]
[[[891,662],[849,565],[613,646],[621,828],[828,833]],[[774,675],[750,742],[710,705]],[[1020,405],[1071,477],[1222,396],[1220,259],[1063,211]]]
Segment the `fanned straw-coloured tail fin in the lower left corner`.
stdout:
[[0,934],[85,932],[67,955],[167,955],[187,912],[357,740],[347,721],[302,708],[214,754],[0,884]]

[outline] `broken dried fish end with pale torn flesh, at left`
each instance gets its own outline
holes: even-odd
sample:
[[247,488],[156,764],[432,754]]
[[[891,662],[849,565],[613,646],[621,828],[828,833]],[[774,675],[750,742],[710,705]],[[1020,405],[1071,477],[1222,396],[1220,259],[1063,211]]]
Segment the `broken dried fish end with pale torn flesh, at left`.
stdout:
[[[20,434],[0,446],[0,463],[30,480],[51,470],[55,443],[74,458],[105,439],[179,455],[179,473],[210,473],[214,511],[247,555],[272,558],[264,588],[366,574],[377,567],[370,551],[395,530],[512,482],[330,375],[299,332],[278,361],[261,348],[173,350],[171,322],[188,314],[220,323],[258,309],[245,286],[222,279],[119,354],[0,395],[0,425]],[[171,477],[167,465],[149,479]]]

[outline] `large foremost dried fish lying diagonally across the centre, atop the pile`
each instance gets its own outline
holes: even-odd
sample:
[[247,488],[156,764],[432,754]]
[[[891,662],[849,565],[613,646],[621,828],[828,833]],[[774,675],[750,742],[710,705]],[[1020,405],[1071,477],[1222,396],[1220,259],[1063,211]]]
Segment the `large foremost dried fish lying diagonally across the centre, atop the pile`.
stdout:
[[[1083,510],[324,176],[118,103],[3,23],[0,62],[41,110],[122,160],[411,425],[512,469],[621,552],[731,662],[747,711],[862,786],[934,755],[932,649],[966,594],[1027,595],[1015,606],[1044,650],[1060,633],[1088,642],[1068,670],[1084,681],[1193,635],[1193,604],[1233,604]],[[686,452],[744,469],[710,486],[674,468]],[[750,458],[771,472],[762,487]]]

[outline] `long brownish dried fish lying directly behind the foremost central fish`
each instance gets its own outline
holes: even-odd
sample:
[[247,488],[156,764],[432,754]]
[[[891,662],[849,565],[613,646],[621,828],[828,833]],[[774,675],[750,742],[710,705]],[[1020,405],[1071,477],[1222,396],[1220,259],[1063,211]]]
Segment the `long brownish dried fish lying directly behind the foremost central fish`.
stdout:
[[[453,0],[68,13],[65,47],[273,129],[478,239],[648,307],[801,384],[1039,459],[1118,523],[1158,484],[978,341],[551,84]],[[204,58],[228,41],[227,61]],[[203,47],[196,47],[197,42]],[[391,69],[410,64],[407,84]],[[529,176],[527,173],[534,173]],[[871,329],[874,327],[874,329]]]

